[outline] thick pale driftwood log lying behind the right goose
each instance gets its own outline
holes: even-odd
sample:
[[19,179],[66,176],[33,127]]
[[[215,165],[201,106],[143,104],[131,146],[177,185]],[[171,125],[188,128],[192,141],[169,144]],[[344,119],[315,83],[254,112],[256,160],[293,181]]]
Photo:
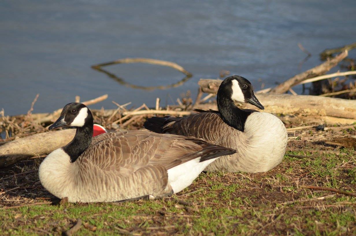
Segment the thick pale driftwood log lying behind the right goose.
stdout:
[[[215,94],[221,82],[221,79],[200,79],[198,84],[203,92]],[[319,119],[328,124],[352,124],[356,122],[355,100],[275,93],[259,93],[256,94],[256,97],[265,106],[265,112],[293,116],[308,115],[313,121]],[[250,104],[242,104],[242,106],[249,109],[258,109]],[[216,104],[200,104],[194,108],[206,109],[210,107],[216,109]],[[308,120],[308,118],[301,119]]]

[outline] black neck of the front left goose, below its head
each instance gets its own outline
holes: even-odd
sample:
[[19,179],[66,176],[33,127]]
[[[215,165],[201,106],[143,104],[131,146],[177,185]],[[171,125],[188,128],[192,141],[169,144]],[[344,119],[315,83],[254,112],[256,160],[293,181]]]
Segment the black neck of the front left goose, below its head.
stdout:
[[88,112],[88,117],[85,119],[83,127],[77,127],[77,132],[73,140],[63,147],[70,161],[74,162],[77,158],[89,147],[91,139],[93,138],[93,116]]

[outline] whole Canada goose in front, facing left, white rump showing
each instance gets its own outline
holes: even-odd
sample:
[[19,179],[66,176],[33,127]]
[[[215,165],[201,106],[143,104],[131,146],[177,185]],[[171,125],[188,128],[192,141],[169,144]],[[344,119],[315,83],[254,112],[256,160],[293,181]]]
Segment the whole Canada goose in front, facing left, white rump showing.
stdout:
[[221,155],[235,153],[197,138],[147,131],[92,138],[93,116],[81,103],[67,104],[49,129],[77,127],[73,140],[41,163],[41,184],[70,202],[108,202],[177,193]]

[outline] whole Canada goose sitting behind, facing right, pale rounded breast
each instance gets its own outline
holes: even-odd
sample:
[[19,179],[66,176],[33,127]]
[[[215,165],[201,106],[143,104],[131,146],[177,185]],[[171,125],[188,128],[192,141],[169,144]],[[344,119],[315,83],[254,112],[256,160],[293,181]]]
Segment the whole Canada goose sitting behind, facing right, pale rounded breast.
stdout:
[[286,152],[287,130],[272,114],[243,110],[234,101],[264,109],[253,93],[251,83],[241,76],[230,76],[221,83],[216,102],[218,111],[202,111],[187,117],[152,117],[144,124],[157,133],[202,138],[208,143],[236,149],[205,170],[265,172],[278,165]]

